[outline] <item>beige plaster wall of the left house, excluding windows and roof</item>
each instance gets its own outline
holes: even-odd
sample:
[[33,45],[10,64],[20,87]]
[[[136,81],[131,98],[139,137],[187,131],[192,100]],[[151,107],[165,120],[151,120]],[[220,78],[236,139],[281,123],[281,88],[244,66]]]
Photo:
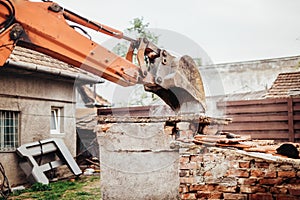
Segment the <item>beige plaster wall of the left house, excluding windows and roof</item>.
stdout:
[[[59,137],[64,139],[71,154],[75,156],[75,99],[72,82],[0,73],[0,85],[0,110],[20,112],[20,145]],[[51,106],[63,107],[63,134],[50,134]],[[26,182],[15,152],[0,152],[0,162],[12,185]]]

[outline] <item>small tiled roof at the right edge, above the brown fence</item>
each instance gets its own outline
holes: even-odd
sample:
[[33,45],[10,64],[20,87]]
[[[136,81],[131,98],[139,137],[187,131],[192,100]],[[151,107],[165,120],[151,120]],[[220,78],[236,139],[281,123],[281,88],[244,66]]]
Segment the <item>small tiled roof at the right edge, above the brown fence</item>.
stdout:
[[277,76],[266,98],[300,97],[300,71],[281,73]]

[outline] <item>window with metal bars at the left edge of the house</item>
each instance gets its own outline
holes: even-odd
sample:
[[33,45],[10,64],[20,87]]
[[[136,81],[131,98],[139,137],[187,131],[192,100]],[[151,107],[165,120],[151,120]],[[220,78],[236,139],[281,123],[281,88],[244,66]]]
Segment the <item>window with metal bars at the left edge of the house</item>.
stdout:
[[0,151],[14,151],[19,146],[19,112],[0,110]]

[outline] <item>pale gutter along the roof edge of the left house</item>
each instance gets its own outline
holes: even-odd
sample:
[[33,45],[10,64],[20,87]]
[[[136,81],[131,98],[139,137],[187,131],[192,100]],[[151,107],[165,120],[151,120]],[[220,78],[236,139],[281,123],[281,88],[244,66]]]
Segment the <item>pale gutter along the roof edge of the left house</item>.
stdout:
[[[104,83],[104,80],[101,77],[98,77],[96,75],[86,75],[83,73],[70,73],[63,71],[61,69],[46,67],[42,65],[36,65],[36,64],[27,64],[22,62],[15,62],[13,60],[8,60],[6,62],[6,65],[10,65],[15,68],[21,68],[33,72],[40,72],[40,73],[46,73],[54,76],[61,76],[65,78],[70,78],[74,80],[80,80],[80,82],[84,82],[87,84],[96,84],[96,83]],[[88,73],[88,72],[87,72]],[[94,77],[92,77],[94,76]]]

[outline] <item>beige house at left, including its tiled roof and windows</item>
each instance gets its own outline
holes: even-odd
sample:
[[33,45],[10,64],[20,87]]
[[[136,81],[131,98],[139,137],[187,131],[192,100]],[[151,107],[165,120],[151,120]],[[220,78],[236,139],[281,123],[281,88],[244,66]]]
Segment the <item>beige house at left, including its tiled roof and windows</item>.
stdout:
[[17,47],[0,69],[0,162],[12,186],[26,183],[15,152],[22,144],[62,138],[76,155],[75,90],[100,78]]

